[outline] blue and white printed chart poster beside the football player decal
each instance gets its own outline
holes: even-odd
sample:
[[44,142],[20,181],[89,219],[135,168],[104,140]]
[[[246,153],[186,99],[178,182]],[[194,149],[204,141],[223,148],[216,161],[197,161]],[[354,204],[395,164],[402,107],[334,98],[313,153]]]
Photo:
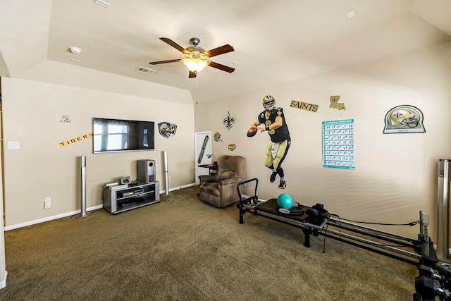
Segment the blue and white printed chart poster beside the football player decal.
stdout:
[[323,167],[355,169],[354,119],[323,121]]

